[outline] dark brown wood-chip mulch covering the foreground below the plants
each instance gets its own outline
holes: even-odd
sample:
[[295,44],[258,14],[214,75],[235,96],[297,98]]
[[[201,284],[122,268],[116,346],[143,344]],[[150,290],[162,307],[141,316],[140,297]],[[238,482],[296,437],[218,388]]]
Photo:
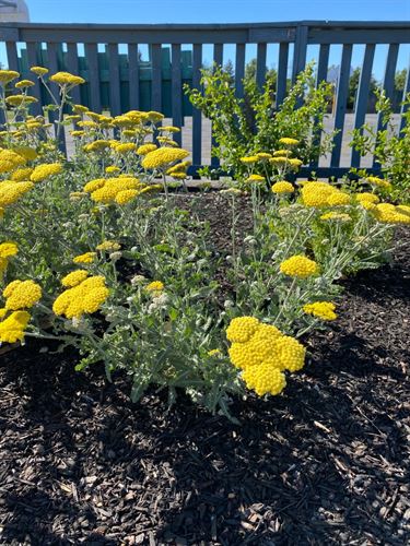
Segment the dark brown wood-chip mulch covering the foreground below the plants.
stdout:
[[407,544],[409,301],[406,251],[345,282],[303,372],[235,402],[241,426],[132,405],[51,346],[0,356],[0,544]]

